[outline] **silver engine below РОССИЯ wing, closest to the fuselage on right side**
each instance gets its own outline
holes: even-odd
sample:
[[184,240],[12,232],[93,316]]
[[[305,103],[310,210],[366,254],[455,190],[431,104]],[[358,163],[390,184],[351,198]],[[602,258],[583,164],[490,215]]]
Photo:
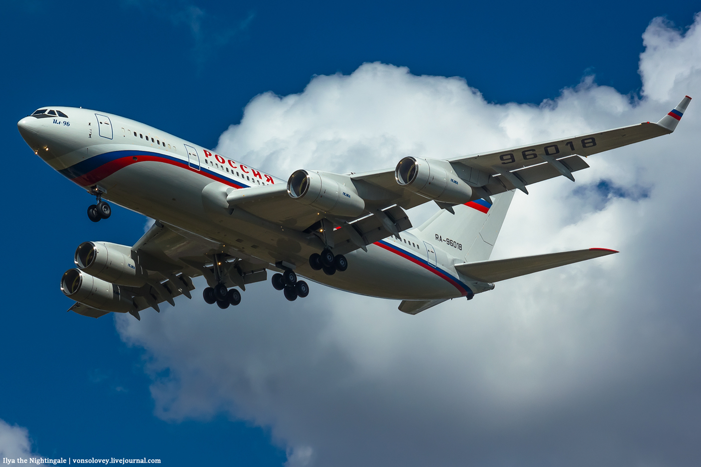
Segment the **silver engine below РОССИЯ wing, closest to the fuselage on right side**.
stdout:
[[365,210],[365,200],[348,175],[297,170],[287,180],[287,193],[300,203],[340,217],[358,217]]

